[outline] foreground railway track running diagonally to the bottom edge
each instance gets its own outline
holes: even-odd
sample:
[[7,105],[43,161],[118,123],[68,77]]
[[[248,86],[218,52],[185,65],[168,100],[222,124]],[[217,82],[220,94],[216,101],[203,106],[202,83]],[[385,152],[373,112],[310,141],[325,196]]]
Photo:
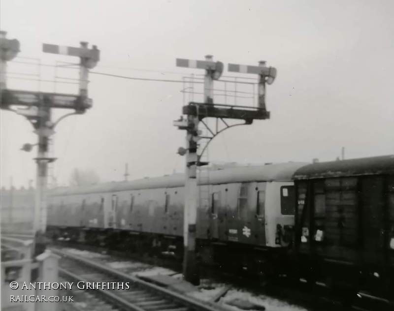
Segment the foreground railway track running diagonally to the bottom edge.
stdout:
[[[163,287],[126,275],[99,263],[66,253],[52,251],[60,256],[59,273],[64,280],[73,282],[128,282],[128,289],[89,290],[91,302],[98,300],[107,306],[102,310],[132,311],[219,311],[219,306],[203,304],[194,298],[169,291]],[[81,283],[82,284],[82,283]],[[126,286],[124,286],[126,288]],[[111,308],[111,309],[110,309]],[[101,309],[100,309],[101,310]]]

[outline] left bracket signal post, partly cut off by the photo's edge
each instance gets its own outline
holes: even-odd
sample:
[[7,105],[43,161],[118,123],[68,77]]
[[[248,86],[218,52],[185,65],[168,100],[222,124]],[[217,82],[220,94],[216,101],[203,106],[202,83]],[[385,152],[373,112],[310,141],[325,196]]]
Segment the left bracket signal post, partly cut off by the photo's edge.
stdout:
[[[5,37],[5,35],[4,35]],[[3,55],[3,34],[1,36],[1,55]],[[7,42],[7,41],[5,41]],[[11,42],[12,43],[12,42]],[[5,47],[12,48],[12,51],[19,51],[16,44],[8,42]],[[37,157],[37,175],[36,175],[36,192],[34,203],[34,220],[33,230],[35,235],[39,237],[45,233],[47,207],[46,207],[46,187],[47,187],[47,170],[48,163],[55,158],[48,157],[48,139],[55,133],[55,126],[64,118],[70,115],[83,114],[86,109],[92,107],[92,99],[88,98],[88,73],[89,69],[95,67],[99,61],[99,50],[96,46],[92,49],[88,48],[86,42],[81,42],[79,48],[64,47],[53,44],[43,44],[43,52],[53,54],[63,54],[78,57],[80,59],[79,68],[79,92],[78,94],[64,93],[45,93],[31,92],[23,90],[10,90],[6,87],[5,72],[3,68],[3,58],[1,57],[1,109],[9,110],[20,114],[33,125],[34,133],[38,136]],[[8,57],[6,61],[9,61]],[[4,80],[4,81],[3,81]],[[22,106],[23,108],[18,108]],[[56,122],[51,121],[52,108],[71,109],[74,112],[62,116]],[[34,145],[25,144],[22,150],[30,151]],[[36,241],[35,253],[42,252],[45,247],[39,247],[39,241]]]

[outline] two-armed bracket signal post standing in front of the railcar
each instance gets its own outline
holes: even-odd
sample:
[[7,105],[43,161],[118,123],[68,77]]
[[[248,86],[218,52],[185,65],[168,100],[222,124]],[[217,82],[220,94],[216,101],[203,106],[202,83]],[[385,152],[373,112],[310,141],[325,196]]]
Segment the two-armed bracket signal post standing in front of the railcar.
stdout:
[[[259,81],[259,104],[258,107],[245,107],[226,104],[216,104],[213,100],[213,81],[219,80],[223,72],[222,62],[213,62],[212,56],[207,55],[205,61],[194,61],[187,59],[177,59],[176,65],[179,67],[205,69],[204,75],[204,102],[190,102],[189,105],[183,107],[183,114],[186,119],[181,117],[174,121],[174,125],[179,129],[186,130],[186,149],[179,148],[180,155],[186,154],[186,171],[185,171],[185,205],[184,205],[184,260],[183,275],[184,279],[199,284],[199,274],[196,259],[196,233],[197,233],[197,166],[206,165],[207,162],[201,162],[202,152],[198,155],[199,136],[198,125],[201,122],[212,133],[208,137],[210,141],[219,132],[223,131],[216,128],[210,129],[202,120],[204,118],[220,119],[228,125],[223,119],[244,120],[242,124],[252,124],[253,120],[269,119],[269,112],[265,109],[265,83],[272,83],[276,77],[276,69],[273,67],[265,67],[265,62],[261,62],[259,66],[245,66],[237,64],[229,64],[229,71],[245,70],[245,73],[258,73]],[[232,70],[230,70],[232,69]],[[238,71],[243,72],[243,71]],[[268,81],[269,79],[269,81]],[[242,125],[236,124],[236,125]],[[225,128],[225,129],[226,129]],[[205,137],[206,138],[206,137]],[[209,142],[208,142],[209,143]]]

